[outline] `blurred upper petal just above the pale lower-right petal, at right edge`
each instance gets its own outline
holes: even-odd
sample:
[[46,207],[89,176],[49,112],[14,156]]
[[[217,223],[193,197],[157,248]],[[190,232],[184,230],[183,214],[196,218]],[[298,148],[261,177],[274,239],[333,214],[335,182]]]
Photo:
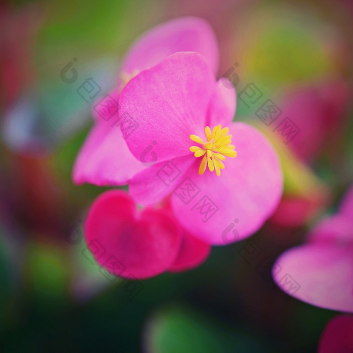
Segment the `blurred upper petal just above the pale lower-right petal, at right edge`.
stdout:
[[353,245],[353,219],[340,214],[328,217],[310,231],[309,241],[332,245]]

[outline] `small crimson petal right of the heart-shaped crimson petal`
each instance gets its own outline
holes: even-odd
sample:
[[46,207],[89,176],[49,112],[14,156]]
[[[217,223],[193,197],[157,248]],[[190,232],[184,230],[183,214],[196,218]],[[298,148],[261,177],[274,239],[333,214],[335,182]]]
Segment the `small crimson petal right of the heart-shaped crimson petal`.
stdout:
[[209,256],[211,246],[183,232],[182,246],[177,259],[170,267],[170,272],[182,272],[201,265]]

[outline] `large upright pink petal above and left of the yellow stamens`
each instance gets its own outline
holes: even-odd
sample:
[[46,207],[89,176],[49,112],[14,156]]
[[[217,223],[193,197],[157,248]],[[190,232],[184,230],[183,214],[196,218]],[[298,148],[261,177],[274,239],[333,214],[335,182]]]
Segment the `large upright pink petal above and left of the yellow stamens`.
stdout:
[[[119,114],[138,125],[126,142],[138,159],[154,144],[159,161],[190,153],[190,135],[204,135],[215,79],[198,53],[179,52],[134,77],[120,96]],[[123,134],[126,131],[122,125]]]

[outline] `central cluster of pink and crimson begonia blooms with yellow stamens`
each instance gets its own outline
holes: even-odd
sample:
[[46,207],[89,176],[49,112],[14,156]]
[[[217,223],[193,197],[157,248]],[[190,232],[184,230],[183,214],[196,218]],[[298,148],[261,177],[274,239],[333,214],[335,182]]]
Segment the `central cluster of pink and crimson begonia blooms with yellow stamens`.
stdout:
[[233,122],[236,92],[216,80],[217,67],[217,42],[201,19],[144,34],[110,93],[121,124],[95,112],[75,162],[77,184],[128,185],[128,193],[111,190],[94,201],[85,237],[89,247],[98,239],[136,278],[200,265],[212,245],[256,232],[280,200],[278,156],[255,128]]

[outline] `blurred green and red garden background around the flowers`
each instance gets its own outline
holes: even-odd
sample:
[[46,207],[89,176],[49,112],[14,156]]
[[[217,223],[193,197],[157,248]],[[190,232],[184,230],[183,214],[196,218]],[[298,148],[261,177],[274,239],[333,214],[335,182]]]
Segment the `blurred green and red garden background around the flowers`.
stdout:
[[[76,90],[93,78],[108,92],[140,34],[186,15],[212,25],[235,119],[276,146],[284,194],[248,240],[127,286],[85,248],[85,213],[106,189],[71,181],[92,125]],[[352,17],[350,0],[1,2],[0,350],[315,352],[336,313],[285,295],[270,270],[353,181]],[[70,62],[75,83],[61,78]],[[298,128],[291,141],[240,99],[249,84]]]

